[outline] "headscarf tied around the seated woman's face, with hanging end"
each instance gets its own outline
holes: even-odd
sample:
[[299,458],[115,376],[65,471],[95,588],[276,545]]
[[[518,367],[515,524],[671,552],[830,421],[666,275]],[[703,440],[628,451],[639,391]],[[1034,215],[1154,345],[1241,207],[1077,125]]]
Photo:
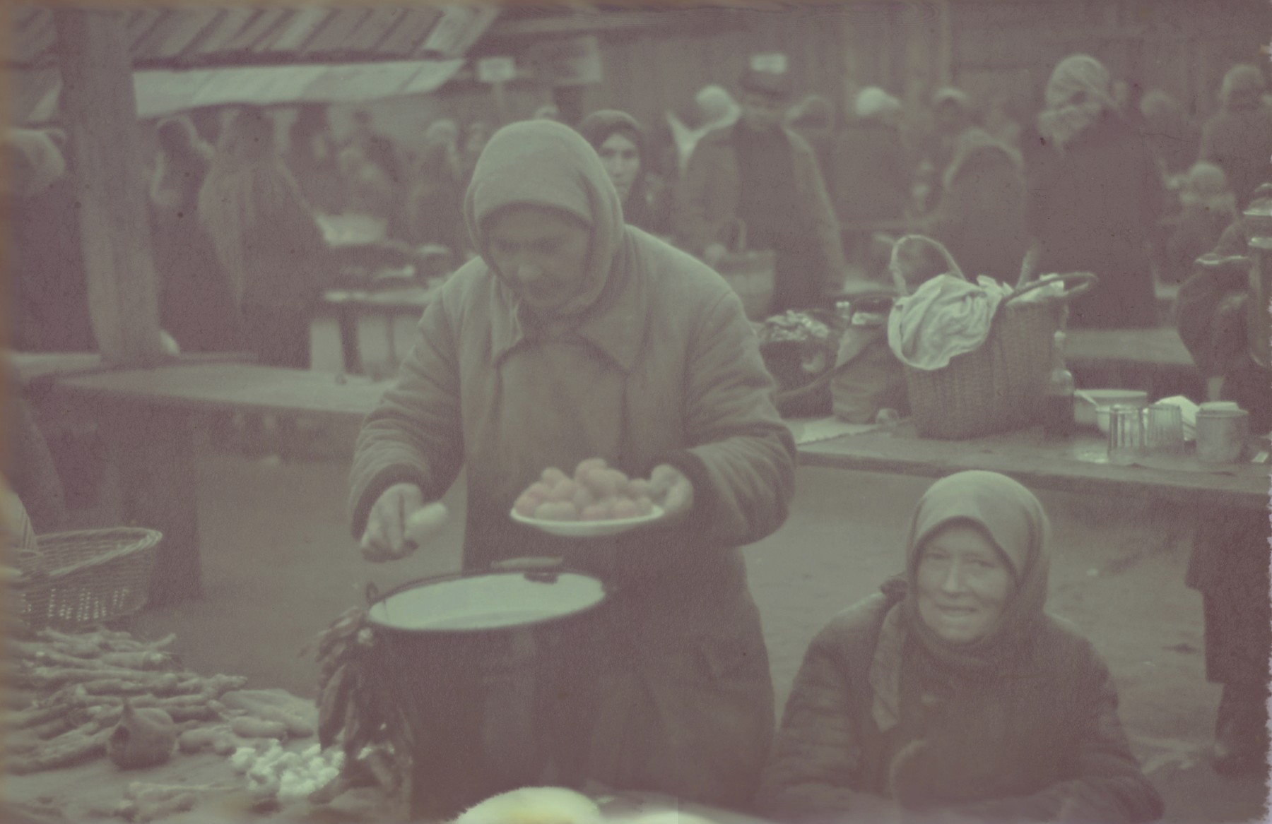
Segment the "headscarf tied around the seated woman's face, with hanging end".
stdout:
[[[951,645],[934,633],[918,614],[918,561],[923,544],[950,524],[981,529],[1009,563],[1015,589],[999,622],[983,637]],[[935,660],[959,673],[996,673],[1028,647],[1043,618],[1051,523],[1042,504],[1020,483],[996,472],[960,472],[941,478],[923,493],[911,516],[906,538],[906,596],[884,618],[870,665],[873,713],[880,730],[899,720],[901,660],[913,637]]]

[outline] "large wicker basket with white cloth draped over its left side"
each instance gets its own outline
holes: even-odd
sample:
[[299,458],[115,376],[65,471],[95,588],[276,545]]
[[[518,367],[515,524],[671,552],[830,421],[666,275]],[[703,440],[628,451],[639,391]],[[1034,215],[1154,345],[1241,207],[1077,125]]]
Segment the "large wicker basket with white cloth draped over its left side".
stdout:
[[[951,275],[964,277],[944,245],[930,238],[922,240],[944,254]],[[1019,300],[1042,286],[1071,280],[1080,282],[1063,295],[1048,300]],[[1037,423],[1061,310],[1065,303],[1090,289],[1094,281],[1095,276],[1089,273],[1053,275],[1020,286],[999,304],[990,334],[979,348],[957,355],[943,369],[923,370],[906,365],[906,389],[918,435],[960,440]]]

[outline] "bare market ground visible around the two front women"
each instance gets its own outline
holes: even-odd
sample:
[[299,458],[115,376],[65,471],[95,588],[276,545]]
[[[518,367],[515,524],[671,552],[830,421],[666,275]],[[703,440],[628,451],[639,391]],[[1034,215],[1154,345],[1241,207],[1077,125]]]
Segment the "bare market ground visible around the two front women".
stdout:
[[[343,609],[382,590],[458,568],[463,493],[429,552],[387,566],[361,561],[349,537],[349,431],[327,457],[277,464],[202,449],[200,534],[206,596],[136,617],[145,636],[177,633],[192,669],[252,687],[314,693],[305,645]],[[750,581],[784,702],[813,635],[899,568],[906,515],[921,478],[800,469],[786,525],[747,548]],[[1105,656],[1136,754],[1166,801],[1166,820],[1266,818],[1259,779],[1225,779],[1205,760],[1219,689],[1202,660],[1201,598],[1183,585],[1191,529],[1177,511],[1046,495],[1056,526],[1049,608]]]

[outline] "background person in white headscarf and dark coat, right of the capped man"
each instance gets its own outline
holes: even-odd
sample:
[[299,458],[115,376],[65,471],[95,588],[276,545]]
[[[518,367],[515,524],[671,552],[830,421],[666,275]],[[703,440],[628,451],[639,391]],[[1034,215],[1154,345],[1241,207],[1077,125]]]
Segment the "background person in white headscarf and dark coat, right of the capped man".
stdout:
[[[845,224],[901,220],[909,202],[911,168],[902,145],[901,100],[883,89],[861,89],[854,117],[836,140],[827,169],[834,211]],[[845,233],[848,254],[862,263],[870,231]]]

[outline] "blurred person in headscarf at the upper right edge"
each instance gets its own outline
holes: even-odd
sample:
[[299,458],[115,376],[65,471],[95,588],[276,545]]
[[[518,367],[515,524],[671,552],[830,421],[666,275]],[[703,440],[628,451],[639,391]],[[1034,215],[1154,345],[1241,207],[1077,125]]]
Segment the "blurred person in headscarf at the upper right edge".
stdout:
[[1266,88],[1258,66],[1234,66],[1224,75],[1220,111],[1202,127],[1198,159],[1224,170],[1240,209],[1267,179],[1272,158],[1272,106],[1263,100]]

